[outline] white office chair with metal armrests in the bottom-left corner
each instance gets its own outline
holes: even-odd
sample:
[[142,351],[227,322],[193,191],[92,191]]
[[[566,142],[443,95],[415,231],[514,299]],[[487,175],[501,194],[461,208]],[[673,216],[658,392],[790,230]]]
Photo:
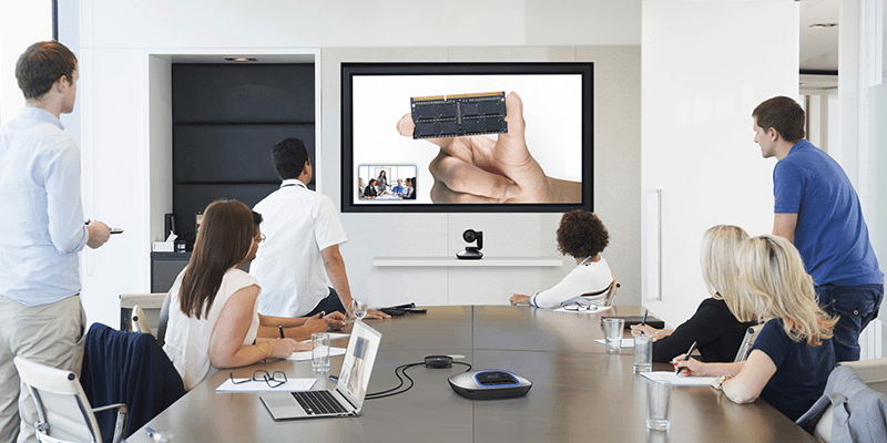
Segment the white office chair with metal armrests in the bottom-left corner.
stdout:
[[114,441],[123,440],[126,405],[111,404],[92,409],[80,380],[71,371],[48,367],[26,358],[13,360],[19,378],[31,391],[39,421],[34,424],[41,443],[102,443],[94,412],[118,409]]

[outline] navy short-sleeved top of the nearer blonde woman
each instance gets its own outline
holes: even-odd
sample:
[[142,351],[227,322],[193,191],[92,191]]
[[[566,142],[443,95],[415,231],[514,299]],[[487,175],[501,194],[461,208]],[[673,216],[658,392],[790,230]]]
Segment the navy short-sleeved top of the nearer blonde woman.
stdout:
[[776,364],[776,373],[761,391],[761,398],[792,421],[819,399],[836,364],[832,339],[817,347],[793,341],[785,333],[782,319],[767,321],[752,349],[759,349]]

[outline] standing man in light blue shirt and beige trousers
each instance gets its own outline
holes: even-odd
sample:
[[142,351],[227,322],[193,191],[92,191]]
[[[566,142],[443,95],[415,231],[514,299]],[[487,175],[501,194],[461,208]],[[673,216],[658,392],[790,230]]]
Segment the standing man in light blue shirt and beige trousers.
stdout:
[[80,151],[59,116],[74,110],[78,64],[54,41],[16,63],[26,107],[0,127],[0,441],[35,441],[33,400],[12,362],[24,357],[80,373],[86,316],[78,253],[110,236],[83,224]]

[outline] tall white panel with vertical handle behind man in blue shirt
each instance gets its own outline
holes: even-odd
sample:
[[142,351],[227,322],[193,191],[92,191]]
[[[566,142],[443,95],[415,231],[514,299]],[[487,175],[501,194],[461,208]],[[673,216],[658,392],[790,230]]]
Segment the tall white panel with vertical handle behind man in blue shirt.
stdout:
[[641,187],[662,192],[663,300],[650,301],[651,280],[644,302],[672,326],[708,297],[699,260],[707,228],[772,229],[776,159],[761,157],[751,114],[797,96],[797,3],[784,0],[643,2]]

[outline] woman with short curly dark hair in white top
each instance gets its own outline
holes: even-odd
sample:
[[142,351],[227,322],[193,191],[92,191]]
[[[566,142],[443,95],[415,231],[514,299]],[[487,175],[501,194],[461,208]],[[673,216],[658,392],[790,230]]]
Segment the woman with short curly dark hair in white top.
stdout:
[[573,301],[603,301],[606,289],[613,284],[610,267],[601,257],[609,243],[610,234],[597,215],[582,209],[564,214],[558,228],[558,250],[573,257],[575,268],[550,289],[534,296],[511,296],[511,305],[554,308]]

